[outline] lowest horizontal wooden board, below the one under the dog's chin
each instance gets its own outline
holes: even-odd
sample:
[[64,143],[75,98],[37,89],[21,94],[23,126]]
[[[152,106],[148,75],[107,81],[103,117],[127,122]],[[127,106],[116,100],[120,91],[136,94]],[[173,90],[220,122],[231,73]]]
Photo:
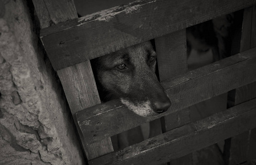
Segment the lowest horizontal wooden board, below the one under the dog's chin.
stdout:
[[155,136],[89,164],[161,164],[256,127],[256,100]]

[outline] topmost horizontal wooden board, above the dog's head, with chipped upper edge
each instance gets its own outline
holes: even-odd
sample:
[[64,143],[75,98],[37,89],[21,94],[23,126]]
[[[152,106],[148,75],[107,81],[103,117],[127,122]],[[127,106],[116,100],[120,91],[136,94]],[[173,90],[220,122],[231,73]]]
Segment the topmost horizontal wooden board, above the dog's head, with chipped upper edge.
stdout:
[[47,27],[41,40],[56,70],[256,4],[255,0],[143,0]]

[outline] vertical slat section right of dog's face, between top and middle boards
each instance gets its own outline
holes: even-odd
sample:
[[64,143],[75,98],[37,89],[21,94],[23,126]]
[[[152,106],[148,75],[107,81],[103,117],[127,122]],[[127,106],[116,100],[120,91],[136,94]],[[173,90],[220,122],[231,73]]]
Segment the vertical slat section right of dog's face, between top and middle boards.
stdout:
[[186,73],[186,29],[155,38],[160,81]]

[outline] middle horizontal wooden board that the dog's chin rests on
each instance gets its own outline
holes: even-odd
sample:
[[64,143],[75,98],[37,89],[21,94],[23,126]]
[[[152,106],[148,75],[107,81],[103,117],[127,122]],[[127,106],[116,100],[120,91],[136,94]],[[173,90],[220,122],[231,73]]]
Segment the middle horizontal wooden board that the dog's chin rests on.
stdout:
[[[256,81],[256,48],[162,81],[172,106],[164,114],[141,117],[110,101],[78,112],[77,121],[87,143],[105,139],[145,122]],[[133,122],[130,122],[133,121]]]

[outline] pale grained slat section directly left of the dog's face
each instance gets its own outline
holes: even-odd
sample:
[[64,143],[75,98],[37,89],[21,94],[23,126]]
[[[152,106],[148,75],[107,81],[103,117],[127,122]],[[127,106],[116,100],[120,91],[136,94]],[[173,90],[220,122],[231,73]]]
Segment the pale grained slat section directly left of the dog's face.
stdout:
[[100,104],[90,61],[57,71],[72,114]]

